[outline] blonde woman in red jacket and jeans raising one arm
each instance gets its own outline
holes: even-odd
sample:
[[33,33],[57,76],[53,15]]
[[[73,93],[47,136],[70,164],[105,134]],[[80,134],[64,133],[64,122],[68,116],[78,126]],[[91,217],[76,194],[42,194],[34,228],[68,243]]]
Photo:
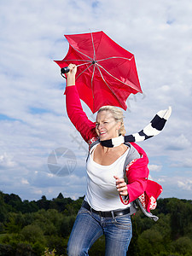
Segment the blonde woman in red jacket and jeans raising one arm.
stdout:
[[[67,114],[90,148],[87,160],[87,190],[68,241],[67,253],[88,255],[92,244],[103,234],[108,256],[124,256],[128,250],[131,231],[131,202],[142,195],[148,178],[148,158],[143,149],[122,143],[125,134],[123,114],[119,108],[100,108],[96,123],[83,112],[75,87],[77,67],[69,65],[67,73]],[[99,140],[97,140],[99,138]],[[102,142],[113,139],[115,146],[107,148]],[[93,144],[92,144],[93,145]],[[137,150],[136,150],[137,148]],[[127,155],[130,163],[124,165]],[[142,156],[142,158],[141,158]]]

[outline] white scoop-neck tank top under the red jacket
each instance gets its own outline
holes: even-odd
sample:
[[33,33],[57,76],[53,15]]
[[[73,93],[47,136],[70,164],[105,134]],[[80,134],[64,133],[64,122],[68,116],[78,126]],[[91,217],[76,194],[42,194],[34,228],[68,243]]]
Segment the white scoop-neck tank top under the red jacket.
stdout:
[[123,169],[129,148],[113,164],[102,166],[93,160],[93,150],[96,146],[90,149],[87,160],[87,190],[84,200],[96,211],[125,209],[129,205],[124,205],[120,201],[116,180],[113,176],[124,177]]

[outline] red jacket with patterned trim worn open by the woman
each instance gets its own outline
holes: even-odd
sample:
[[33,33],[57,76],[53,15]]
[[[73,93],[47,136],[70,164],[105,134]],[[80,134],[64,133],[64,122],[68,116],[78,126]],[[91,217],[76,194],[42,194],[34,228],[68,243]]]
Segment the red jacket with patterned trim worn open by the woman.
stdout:
[[[76,86],[67,86],[65,95],[69,119],[71,119],[73,125],[80,132],[86,143],[91,144],[95,142],[98,139],[96,123],[90,121],[84,113]],[[156,202],[157,196],[160,195],[162,188],[158,183],[148,181],[148,156],[143,148],[139,147],[136,143],[131,144],[137,149],[141,158],[133,160],[131,164],[126,166],[129,201],[124,201],[122,197],[121,201],[124,204],[128,204],[131,201],[135,201],[138,197],[141,197],[140,201],[143,201],[143,207],[149,212],[151,205],[150,197],[152,196],[153,203],[154,201]],[[142,196],[144,198],[143,200]]]

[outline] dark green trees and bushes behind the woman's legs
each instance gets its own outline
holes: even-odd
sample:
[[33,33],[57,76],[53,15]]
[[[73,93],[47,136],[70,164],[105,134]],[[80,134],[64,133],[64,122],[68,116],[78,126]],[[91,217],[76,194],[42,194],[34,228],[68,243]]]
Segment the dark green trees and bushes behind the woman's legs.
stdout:
[[[0,191],[0,256],[67,255],[67,241],[83,197],[22,201]],[[159,199],[154,222],[137,212],[132,216],[133,237],[129,256],[192,256],[192,201]],[[104,237],[90,249],[102,256]]]

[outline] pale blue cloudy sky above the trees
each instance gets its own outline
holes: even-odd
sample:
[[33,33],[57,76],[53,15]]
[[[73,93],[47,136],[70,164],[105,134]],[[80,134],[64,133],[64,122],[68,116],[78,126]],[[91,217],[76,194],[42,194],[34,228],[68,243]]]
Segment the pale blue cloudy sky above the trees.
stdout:
[[0,190],[29,201],[84,195],[88,147],[67,117],[54,60],[67,54],[64,34],[103,31],[137,63],[143,95],[126,101],[127,134],[172,106],[160,135],[139,143],[150,179],[160,197],[191,200],[191,13],[190,0],[1,0]]

